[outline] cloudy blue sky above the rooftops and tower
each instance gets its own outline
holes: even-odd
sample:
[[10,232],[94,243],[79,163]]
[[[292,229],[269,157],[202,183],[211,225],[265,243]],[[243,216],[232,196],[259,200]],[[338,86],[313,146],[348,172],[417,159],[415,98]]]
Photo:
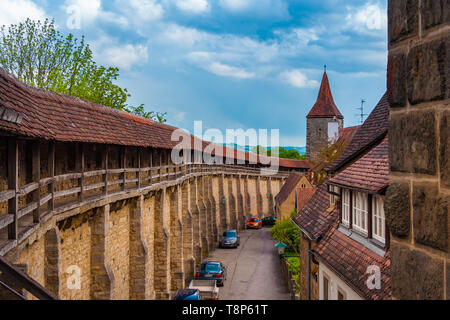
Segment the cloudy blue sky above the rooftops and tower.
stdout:
[[[0,24],[54,18],[121,70],[131,103],[204,129],[280,129],[304,146],[328,75],[345,125],[386,90],[386,0],[2,0]],[[80,15],[78,16],[77,13]],[[75,19],[74,19],[75,17]],[[79,18],[79,19],[77,19]],[[79,22],[79,24],[77,23]],[[74,28],[75,27],[75,28]]]

